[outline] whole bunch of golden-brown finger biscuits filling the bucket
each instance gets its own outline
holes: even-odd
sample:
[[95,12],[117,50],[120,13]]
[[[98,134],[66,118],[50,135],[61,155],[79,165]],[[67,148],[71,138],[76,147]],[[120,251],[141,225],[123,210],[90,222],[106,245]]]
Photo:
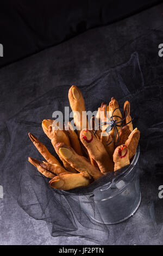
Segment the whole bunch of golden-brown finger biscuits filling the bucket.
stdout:
[[76,86],[70,88],[68,99],[77,133],[70,122],[65,127],[59,121],[42,121],[42,129],[51,140],[62,164],[39,139],[29,133],[35,147],[46,160],[40,162],[29,157],[29,162],[51,179],[51,187],[60,190],[88,186],[103,175],[128,166],[140,138],[140,131],[137,128],[133,130],[128,101],[124,103],[123,117],[114,97],[109,105],[103,102],[90,126],[82,93]]

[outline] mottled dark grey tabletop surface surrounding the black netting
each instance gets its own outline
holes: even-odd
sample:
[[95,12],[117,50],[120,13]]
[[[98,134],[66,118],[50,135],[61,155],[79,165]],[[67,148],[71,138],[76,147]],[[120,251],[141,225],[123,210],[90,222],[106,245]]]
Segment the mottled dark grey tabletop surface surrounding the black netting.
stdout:
[[[151,29],[159,31],[163,25],[162,9],[161,4],[112,25],[91,29],[58,46],[1,69],[1,134],[7,137],[8,131],[4,129],[7,119],[56,85],[89,84],[104,70],[126,62],[131,51],[123,52],[124,46],[139,36],[148,34]],[[3,159],[5,147],[9,147],[9,144],[4,145],[1,141],[0,145]],[[147,205],[141,204],[133,218],[125,224],[118,224],[116,231],[124,229],[125,235],[122,235],[115,244],[127,244],[128,241],[131,244],[162,243],[163,230],[162,228],[159,232],[155,230],[155,223],[151,220],[151,216],[146,215],[149,211],[147,208]],[[4,199],[0,199],[0,211],[1,244],[87,245],[91,243],[77,237],[66,237],[66,239],[51,237],[46,223],[29,217],[5,191]],[[137,222],[140,225],[136,225]],[[116,237],[114,226],[111,230],[112,236]],[[111,241],[112,239],[108,244]]]

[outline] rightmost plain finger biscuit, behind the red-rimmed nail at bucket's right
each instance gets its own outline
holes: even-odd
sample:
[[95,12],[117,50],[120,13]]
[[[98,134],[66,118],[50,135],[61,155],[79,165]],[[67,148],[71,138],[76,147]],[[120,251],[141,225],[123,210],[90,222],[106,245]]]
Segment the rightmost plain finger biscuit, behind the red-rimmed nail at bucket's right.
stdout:
[[125,145],[127,145],[129,149],[129,160],[135,155],[137,144],[140,139],[140,131],[135,128],[129,135]]

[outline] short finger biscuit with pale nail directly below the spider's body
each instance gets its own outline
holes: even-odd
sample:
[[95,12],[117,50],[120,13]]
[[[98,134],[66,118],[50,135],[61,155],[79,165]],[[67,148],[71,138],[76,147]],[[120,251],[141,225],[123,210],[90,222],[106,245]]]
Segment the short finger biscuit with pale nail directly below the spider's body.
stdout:
[[112,139],[111,135],[109,135],[107,132],[102,132],[100,139],[110,158],[112,159],[112,155],[114,153],[114,139]]

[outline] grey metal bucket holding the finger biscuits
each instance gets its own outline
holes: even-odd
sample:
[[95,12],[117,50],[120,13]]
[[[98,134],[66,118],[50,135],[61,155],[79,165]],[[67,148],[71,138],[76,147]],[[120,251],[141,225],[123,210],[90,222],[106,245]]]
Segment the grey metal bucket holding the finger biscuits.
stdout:
[[127,220],[141,202],[139,154],[140,147],[137,147],[130,165],[112,182],[96,188],[93,193],[77,195],[65,191],[65,194],[73,197],[74,202],[80,202],[80,209],[94,223],[116,224]]

